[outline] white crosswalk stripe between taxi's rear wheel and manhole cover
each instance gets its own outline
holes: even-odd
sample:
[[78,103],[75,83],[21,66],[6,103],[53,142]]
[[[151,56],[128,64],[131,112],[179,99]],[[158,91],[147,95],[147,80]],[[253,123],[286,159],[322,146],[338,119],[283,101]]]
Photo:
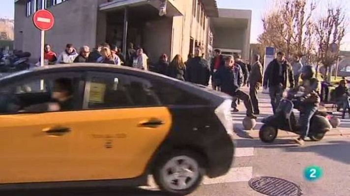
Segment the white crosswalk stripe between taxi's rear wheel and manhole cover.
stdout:
[[204,177],[203,184],[220,184],[231,182],[246,182],[253,177],[253,167],[231,168],[231,170],[223,176],[217,178]]

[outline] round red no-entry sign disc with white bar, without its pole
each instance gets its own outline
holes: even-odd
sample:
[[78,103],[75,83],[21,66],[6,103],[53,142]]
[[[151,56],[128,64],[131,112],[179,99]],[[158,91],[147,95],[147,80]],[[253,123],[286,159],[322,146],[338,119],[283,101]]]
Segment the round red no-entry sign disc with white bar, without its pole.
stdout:
[[34,13],[33,23],[40,30],[50,30],[54,26],[55,18],[51,12],[42,9]]

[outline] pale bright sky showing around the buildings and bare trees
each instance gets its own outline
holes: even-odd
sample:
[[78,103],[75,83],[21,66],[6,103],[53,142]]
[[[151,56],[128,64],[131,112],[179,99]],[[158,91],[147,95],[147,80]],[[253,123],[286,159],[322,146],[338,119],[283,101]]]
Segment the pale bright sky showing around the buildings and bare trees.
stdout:
[[[0,0],[0,18],[14,18],[14,0]],[[350,11],[350,0],[316,0],[318,5],[332,3],[342,3]],[[272,8],[271,0],[217,0],[219,8],[228,9],[249,9],[252,10],[251,43],[257,43],[258,36],[262,33],[262,16]],[[321,13],[319,8],[318,13]],[[343,49],[350,50],[350,29],[344,38]]]

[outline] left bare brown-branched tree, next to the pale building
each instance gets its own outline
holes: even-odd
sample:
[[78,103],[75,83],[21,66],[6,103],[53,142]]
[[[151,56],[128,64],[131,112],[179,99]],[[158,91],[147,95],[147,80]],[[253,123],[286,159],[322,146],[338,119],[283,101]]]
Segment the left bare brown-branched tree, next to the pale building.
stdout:
[[278,2],[277,9],[262,19],[264,31],[258,41],[264,46],[286,51],[287,56],[310,54],[314,34],[311,19],[316,3],[312,0],[307,6],[307,0]]

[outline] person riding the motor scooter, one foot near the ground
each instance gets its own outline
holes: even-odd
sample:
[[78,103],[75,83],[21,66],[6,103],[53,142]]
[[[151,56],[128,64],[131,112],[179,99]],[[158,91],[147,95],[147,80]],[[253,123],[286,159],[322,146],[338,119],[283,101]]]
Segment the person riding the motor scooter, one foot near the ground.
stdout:
[[309,134],[311,118],[318,110],[320,103],[320,97],[318,95],[320,82],[315,77],[315,73],[315,69],[312,66],[304,66],[301,70],[301,79],[303,80],[301,87],[303,87],[304,92],[298,98],[298,109],[300,110],[299,122],[302,135],[295,139],[295,142],[299,145],[304,145],[304,139]]

